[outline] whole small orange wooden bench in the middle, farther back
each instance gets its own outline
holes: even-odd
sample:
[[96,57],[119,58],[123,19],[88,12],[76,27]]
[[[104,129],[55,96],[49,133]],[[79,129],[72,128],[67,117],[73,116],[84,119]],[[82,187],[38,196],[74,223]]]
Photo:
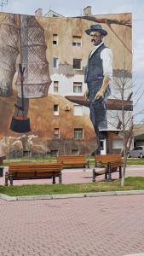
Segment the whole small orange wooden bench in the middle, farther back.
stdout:
[[57,162],[62,163],[63,166],[88,166],[89,160],[86,160],[85,155],[61,155],[57,157]]

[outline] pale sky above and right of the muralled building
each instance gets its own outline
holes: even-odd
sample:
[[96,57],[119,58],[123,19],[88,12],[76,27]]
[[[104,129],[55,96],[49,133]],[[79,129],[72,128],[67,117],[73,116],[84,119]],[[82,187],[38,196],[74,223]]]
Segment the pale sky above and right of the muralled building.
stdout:
[[[0,3],[7,0],[0,0]],[[144,1],[143,0],[8,0],[8,5],[3,5],[3,11],[34,15],[36,9],[43,9],[43,15],[49,9],[55,10],[60,15],[74,17],[83,14],[83,9],[90,5],[93,15],[107,15],[118,13],[132,13],[133,15],[133,78],[137,86],[142,84],[144,89]],[[135,113],[144,108],[144,96],[138,102]],[[137,116],[135,122],[144,119],[144,114]]]

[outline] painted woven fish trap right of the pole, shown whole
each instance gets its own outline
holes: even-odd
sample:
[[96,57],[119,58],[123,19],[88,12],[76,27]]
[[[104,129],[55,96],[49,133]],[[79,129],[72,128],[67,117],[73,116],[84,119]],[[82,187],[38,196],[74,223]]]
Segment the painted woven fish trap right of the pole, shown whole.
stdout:
[[[25,67],[24,97],[47,96],[51,80],[44,30],[34,16],[20,15],[20,63]],[[16,87],[21,96],[20,75]]]

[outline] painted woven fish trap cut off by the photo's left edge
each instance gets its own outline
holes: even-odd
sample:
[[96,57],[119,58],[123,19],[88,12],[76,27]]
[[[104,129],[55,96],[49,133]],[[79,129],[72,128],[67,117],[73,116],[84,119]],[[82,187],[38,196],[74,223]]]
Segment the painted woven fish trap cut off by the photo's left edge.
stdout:
[[0,96],[10,96],[19,54],[19,15],[0,14]]

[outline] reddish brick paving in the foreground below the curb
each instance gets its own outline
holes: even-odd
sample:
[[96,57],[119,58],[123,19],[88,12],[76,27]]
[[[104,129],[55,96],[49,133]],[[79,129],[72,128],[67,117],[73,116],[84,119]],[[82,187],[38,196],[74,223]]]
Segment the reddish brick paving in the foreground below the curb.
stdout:
[[144,195],[0,200],[1,256],[144,253]]

